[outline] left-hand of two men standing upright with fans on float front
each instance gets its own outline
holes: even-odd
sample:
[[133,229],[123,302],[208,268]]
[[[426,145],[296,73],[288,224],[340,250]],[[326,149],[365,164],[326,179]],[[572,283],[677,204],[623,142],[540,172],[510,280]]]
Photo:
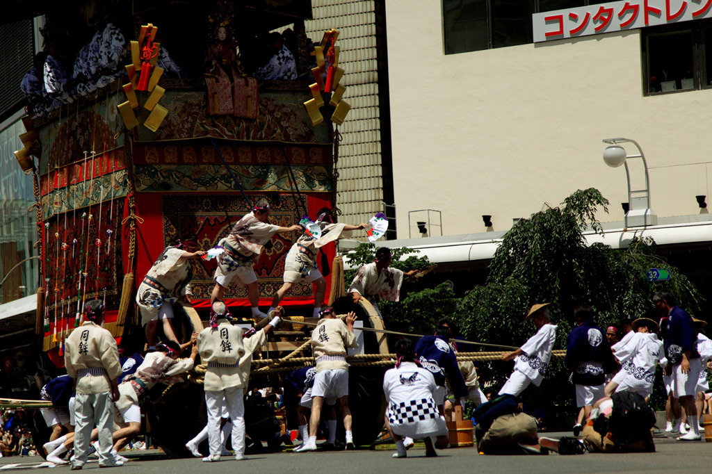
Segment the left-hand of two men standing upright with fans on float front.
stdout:
[[210,295],[211,301],[221,300],[225,288],[237,278],[247,287],[247,298],[250,300],[253,317],[265,317],[259,309],[260,288],[252,265],[274,234],[301,230],[299,224],[280,227],[268,223],[269,213],[269,204],[261,199],[250,214],[237,221],[230,235],[220,241],[225,251],[218,256],[218,267],[214,276],[216,283]]

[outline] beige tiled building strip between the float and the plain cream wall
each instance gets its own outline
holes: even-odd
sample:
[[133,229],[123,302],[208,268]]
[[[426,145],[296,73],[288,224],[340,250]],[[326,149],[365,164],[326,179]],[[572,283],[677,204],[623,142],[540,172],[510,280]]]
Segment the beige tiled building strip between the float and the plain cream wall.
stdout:
[[[374,0],[313,0],[307,36],[321,41],[325,31],[339,30],[339,65],[345,70],[343,99],[351,105],[339,147],[337,206],[345,223],[367,222],[383,211],[382,149]],[[388,203],[392,204],[392,203]],[[362,236],[355,236],[361,238]]]

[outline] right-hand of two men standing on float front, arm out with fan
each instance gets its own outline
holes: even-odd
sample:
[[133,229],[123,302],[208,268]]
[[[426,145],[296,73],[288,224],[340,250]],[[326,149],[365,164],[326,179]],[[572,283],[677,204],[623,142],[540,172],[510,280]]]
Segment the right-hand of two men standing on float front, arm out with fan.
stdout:
[[270,311],[281,302],[283,297],[289,294],[295,284],[314,283],[316,290],[314,292],[314,312],[312,316],[319,317],[326,293],[326,280],[321,274],[317,263],[319,249],[339,238],[349,237],[351,231],[367,227],[365,223],[360,223],[358,226],[337,223],[333,211],[328,208],[319,210],[316,224],[321,229],[319,238],[315,238],[308,229],[305,229],[305,232],[299,236],[296,243],[289,249],[284,263],[284,284],[274,295]]

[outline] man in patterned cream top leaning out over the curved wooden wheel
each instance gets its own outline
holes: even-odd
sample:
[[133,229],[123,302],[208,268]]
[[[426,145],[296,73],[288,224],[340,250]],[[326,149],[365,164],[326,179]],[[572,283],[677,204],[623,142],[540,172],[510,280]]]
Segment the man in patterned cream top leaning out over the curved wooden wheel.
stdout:
[[415,275],[418,270],[410,270],[404,273],[397,268],[390,268],[391,259],[391,249],[380,247],[376,251],[376,258],[373,263],[363,265],[357,270],[356,276],[347,291],[353,297],[354,304],[359,302],[361,298],[366,298],[380,315],[381,312],[378,309],[380,300],[399,300],[403,277]]

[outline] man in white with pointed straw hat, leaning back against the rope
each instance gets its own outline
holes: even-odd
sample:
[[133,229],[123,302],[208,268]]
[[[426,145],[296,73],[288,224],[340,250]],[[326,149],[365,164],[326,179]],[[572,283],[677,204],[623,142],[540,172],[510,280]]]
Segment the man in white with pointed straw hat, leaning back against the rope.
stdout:
[[519,349],[502,356],[503,361],[514,360],[514,372],[506,381],[500,395],[518,396],[529,384],[539,386],[546,375],[551,359],[551,349],[556,339],[556,326],[549,322],[551,303],[533,305],[525,320],[531,320],[537,332]]

